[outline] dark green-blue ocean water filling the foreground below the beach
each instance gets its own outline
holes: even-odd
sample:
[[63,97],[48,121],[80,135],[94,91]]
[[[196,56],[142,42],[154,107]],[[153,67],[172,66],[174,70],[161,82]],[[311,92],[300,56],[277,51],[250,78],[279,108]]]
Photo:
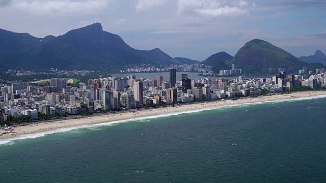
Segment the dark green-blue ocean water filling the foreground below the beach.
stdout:
[[246,104],[0,140],[0,176],[5,182],[325,182],[325,108],[325,98]]

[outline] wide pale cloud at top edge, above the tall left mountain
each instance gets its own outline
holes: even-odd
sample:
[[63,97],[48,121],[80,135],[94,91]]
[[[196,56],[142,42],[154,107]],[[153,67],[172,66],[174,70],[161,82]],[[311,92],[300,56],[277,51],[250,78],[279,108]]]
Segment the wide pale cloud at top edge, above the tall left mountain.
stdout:
[[13,7],[36,15],[83,15],[103,12],[111,0],[15,0]]

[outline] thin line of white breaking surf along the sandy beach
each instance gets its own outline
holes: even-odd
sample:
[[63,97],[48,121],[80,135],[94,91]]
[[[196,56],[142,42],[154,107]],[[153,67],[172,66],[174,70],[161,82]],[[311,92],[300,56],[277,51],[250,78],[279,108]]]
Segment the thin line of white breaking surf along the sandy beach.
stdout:
[[144,117],[138,117],[138,118],[132,118],[132,119],[125,119],[125,120],[117,120],[117,121],[111,121],[111,122],[101,123],[101,124],[82,125],[82,126],[77,126],[77,127],[61,128],[61,129],[51,130],[51,131],[47,131],[47,132],[19,135],[19,136],[14,137],[14,138],[2,139],[2,140],[0,140],[0,145],[3,145],[3,144],[13,145],[13,144],[15,144],[13,141],[15,141],[15,140],[39,138],[39,137],[44,137],[44,136],[50,135],[50,134],[68,132],[68,131],[77,130],[77,129],[85,129],[85,128],[89,129],[89,128],[91,128],[90,130],[95,130],[96,127],[113,126],[113,125],[128,123],[130,121],[138,121],[138,120],[140,120],[140,121],[148,121],[147,119],[155,119],[155,118],[160,118],[160,117],[169,117],[169,116],[175,116],[175,115],[186,114],[186,113],[197,113],[197,112],[216,110],[216,109],[221,109],[221,108],[230,108],[230,107],[238,107],[238,106],[250,106],[250,105],[258,105],[258,104],[265,104],[265,103],[279,103],[279,102],[287,102],[287,101],[300,101],[300,100],[317,99],[317,98],[326,98],[326,95],[311,96],[311,97],[301,97],[301,98],[293,98],[293,99],[280,99],[280,100],[275,100],[275,101],[263,101],[263,102],[254,102],[254,103],[244,103],[244,104],[232,104],[232,105],[225,105],[225,106],[218,106],[218,107],[194,109],[194,110],[189,110],[189,111],[180,111],[180,112],[172,112],[172,113],[166,113],[166,114],[158,114],[158,115],[153,115],[153,116],[144,116]]

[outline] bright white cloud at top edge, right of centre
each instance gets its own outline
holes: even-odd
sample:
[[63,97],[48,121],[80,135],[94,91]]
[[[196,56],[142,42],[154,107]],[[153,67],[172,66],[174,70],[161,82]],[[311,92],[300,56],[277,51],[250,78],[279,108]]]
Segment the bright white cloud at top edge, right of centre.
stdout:
[[[254,3],[251,7],[254,7]],[[178,13],[197,13],[207,16],[242,15],[249,12],[250,3],[247,1],[225,0],[178,0]]]

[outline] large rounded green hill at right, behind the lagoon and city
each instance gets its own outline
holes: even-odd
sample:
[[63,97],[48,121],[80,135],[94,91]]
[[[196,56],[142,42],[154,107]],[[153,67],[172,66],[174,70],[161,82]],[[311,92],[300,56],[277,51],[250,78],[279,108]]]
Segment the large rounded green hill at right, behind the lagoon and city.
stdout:
[[304,63],[289,52],[259,39],[244,44],[229,64],[245,73],[260,73],[261,69],[268,68],[291,68],[294,73],[304,66],[309,70],[324,68],[322,64]]

